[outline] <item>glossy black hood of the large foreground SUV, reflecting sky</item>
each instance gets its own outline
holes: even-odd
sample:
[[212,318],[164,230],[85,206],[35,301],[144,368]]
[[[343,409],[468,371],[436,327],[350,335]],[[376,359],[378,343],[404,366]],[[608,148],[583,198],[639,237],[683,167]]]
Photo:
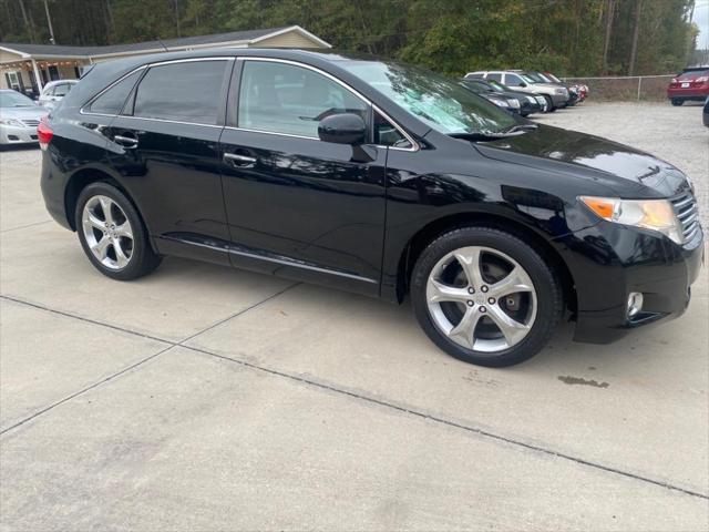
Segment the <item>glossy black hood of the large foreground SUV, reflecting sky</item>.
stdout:
[[586,174],[600,181],[619,197],[671,197],[689,188],[682,172],[648,153],[599,136],[548,125],[475,146],[491,158],[537,167],[556,163],[554,170],[562,173],[576,167],[577,177]]

